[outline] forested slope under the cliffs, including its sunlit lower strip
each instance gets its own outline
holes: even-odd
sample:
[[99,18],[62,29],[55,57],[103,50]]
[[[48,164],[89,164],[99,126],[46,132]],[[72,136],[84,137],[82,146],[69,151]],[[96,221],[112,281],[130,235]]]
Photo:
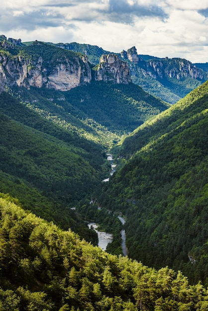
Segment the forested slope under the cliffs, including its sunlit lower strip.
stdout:
[[107,148],[169,107],[133,83],[94,81],[65,92],[17,87],[12,94],[41,116]]

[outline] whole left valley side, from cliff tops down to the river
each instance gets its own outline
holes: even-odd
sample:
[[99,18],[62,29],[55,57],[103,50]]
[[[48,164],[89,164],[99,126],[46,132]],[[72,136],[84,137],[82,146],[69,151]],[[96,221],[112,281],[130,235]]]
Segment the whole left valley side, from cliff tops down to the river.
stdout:
[[[117,57],[106,58],[97,81],[97,71],[73,52],[40,42],[22,46],[3,36],[0,45],[0,191],[95,242],[96,234],[70,208],[106,178],[105,153],[121,135],[167,105],[131,83],[127,64]],[[75,67],[80,73],[70,90],[67,79],[61,87],[65,65],[70,77]],[[81,78],[86,68],[90,82]]]

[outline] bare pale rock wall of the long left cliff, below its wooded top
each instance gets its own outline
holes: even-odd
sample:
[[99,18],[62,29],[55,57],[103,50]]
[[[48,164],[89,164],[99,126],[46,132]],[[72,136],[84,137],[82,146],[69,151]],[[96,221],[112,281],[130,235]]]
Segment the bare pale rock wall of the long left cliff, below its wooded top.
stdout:
[[[7,42],[2,42],[1,47],[8,45]],[[65,56],[57,59],[51,67],[41,56],[38,59],[21,55],[11,57],[6,50],[0,52],[0,92],[5,89],[5,86],[13,85],[27,88],[44,86],[67,91],[91,80],[91,68],[86,56],[82,58]]]

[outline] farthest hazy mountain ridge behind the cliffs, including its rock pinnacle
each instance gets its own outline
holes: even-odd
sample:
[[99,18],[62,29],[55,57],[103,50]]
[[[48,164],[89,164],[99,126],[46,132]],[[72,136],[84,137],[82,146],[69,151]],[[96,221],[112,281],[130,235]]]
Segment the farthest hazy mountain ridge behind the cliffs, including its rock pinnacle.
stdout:
[[[89,44],[66,43],[57,46],[83,53],[95,65],[103,54],[109,54],[109,51]],[[141,55],[137,54],[135,47],[113,54],[127,62],[134,83],[171,104],[208,79],[205,66],[199,64],[198,68],[198,64],[192,64],[185,59]]]

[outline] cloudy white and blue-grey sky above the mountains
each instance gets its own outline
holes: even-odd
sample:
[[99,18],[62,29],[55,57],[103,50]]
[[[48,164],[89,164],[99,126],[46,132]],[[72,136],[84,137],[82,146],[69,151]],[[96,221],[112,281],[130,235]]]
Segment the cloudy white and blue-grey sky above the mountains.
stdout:
[[1,0],[0,34],[208,62],[208,0]]

